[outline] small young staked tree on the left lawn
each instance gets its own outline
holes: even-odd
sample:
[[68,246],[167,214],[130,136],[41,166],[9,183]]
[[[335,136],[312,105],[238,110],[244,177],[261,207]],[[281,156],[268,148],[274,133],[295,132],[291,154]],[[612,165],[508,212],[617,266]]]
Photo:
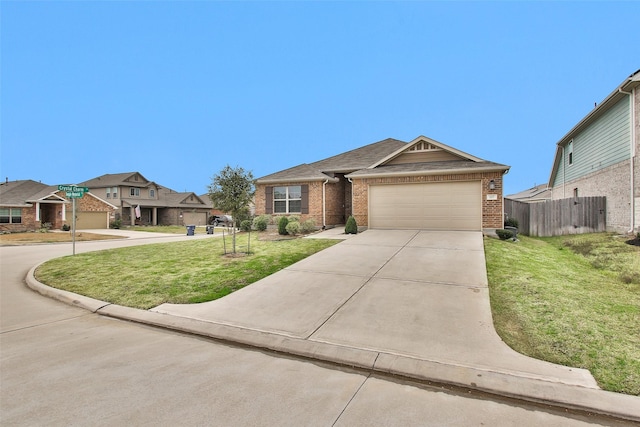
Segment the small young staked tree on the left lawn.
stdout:
[[[211,178],[209,197],[216,209],[231,214],[238,221],[249,209],[255,188],[253,174],[236,166],[225,166]],[[236,234],[233,233],[233,253],[236,253]]]

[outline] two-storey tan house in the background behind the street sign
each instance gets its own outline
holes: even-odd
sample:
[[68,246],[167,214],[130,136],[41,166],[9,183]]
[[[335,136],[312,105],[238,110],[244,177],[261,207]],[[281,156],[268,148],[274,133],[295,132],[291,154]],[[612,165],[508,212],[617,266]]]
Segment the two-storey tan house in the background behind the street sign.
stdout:
[[92,193],[120,208],[123,225],[205,225],[211,201],[192,192],[176,192],[139,172],[101,175],[82,182]]

